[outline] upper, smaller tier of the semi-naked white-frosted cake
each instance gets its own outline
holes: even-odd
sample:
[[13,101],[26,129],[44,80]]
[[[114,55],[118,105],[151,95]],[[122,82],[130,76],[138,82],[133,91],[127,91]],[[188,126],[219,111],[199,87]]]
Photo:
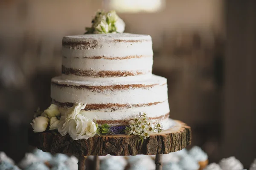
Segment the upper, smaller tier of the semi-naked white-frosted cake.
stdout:
[[62,73],[90,77],[123,77],[151,73],[149,35],[87,34],[62,40]]

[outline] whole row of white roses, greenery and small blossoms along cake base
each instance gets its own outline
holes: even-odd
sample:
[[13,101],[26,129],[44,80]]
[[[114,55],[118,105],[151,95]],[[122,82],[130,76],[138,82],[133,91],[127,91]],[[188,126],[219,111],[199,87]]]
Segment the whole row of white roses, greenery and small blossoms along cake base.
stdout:
[[99,126],[96,119],[92,120],[80,113],[85,107],[86,104],[75,103],[62,115],[55,104],[51,104],[43,112],[38,109],[35,112],[35,119],[31,123],[33,131],[35,133],[58,131],[62,136],[69,134],[73,140],[88,139],[94,135],[127,134],[137,135],[143,142],[151,133],[160,133],[163,130],[163,125],[160,122],[149,120],[145,113],[139,113],[131,118],[129,125],[102,124]]

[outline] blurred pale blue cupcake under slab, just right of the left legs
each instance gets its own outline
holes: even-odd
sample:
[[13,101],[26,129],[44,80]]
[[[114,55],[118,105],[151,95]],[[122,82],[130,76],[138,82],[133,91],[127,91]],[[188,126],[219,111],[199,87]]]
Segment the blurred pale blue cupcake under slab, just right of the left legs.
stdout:
[[123,156],[108,156],[102,159],[100,170],[124,170],[126,164]]

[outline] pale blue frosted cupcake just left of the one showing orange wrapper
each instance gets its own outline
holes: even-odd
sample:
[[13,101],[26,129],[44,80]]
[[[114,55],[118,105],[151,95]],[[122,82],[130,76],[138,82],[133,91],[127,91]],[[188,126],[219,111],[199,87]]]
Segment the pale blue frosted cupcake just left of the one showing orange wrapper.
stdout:
[[200,168],[198,161],[189,155],[183,156],[178,164],[183,168],[183,170],[199,170]]

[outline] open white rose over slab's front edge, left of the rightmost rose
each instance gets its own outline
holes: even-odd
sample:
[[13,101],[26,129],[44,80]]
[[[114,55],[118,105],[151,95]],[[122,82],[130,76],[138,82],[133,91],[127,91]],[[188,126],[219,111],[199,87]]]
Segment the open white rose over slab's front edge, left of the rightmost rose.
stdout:
[[77,115],[75,119],[69,120],[68,134],[73,140],[88,139],[90,136],[86,134],[88,119],[84,115]]

